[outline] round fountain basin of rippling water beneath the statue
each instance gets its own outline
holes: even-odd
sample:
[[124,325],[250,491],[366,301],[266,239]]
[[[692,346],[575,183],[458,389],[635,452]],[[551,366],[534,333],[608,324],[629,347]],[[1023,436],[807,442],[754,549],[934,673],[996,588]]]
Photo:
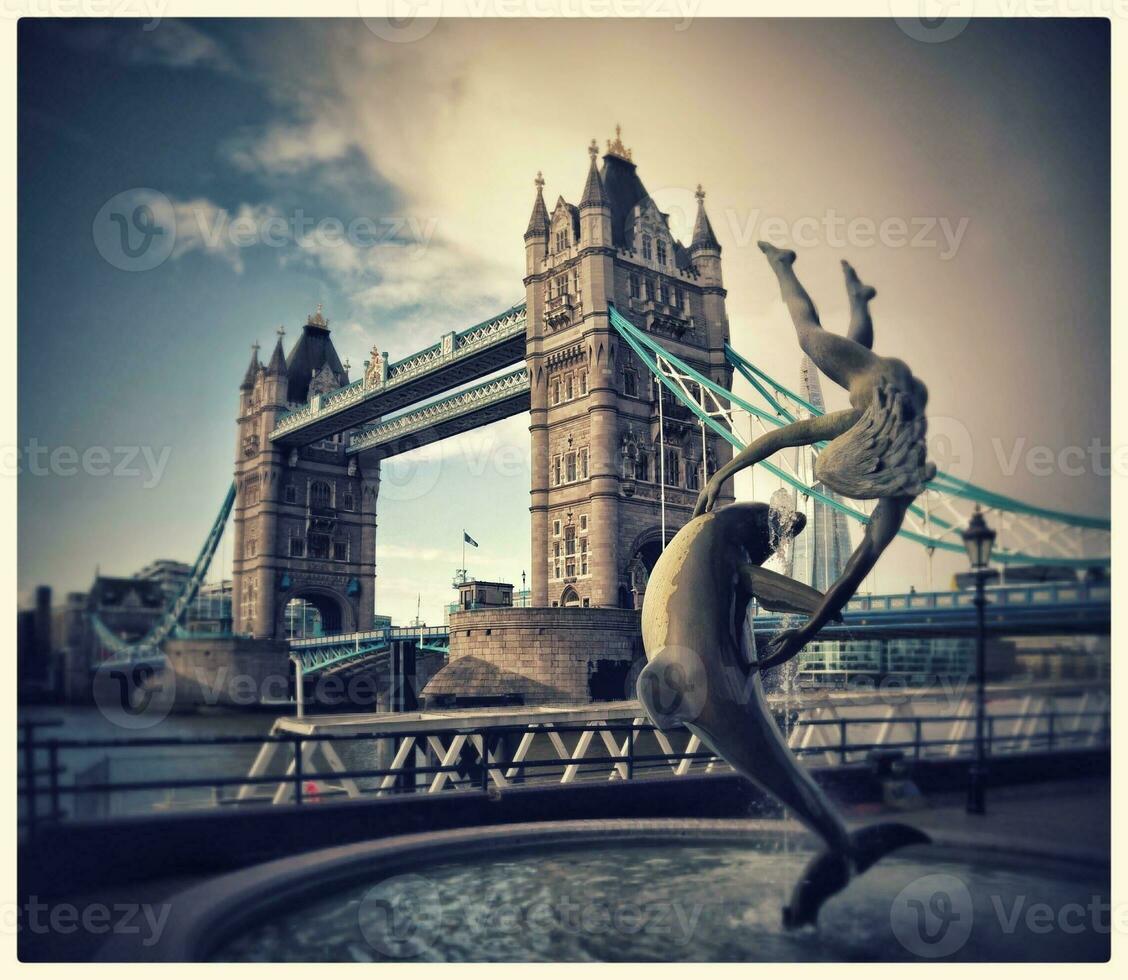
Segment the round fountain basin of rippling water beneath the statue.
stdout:
[[177,895],[147,951],[190,961],[1103,961],[1108,865],[981,839],[906,848],[818,929],[781,908],[814,853],[779,821],[592,820],[328,848]]

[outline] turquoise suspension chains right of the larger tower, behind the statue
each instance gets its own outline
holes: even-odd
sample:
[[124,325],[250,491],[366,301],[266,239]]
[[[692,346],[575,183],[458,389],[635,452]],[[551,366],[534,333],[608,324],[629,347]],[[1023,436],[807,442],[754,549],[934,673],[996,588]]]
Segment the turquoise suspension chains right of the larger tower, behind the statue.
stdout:
[[[693,412],[703,425],[708,426],[737,451],[748,444],[733,424],[737,410],[748,414],[765,432],[769,427],[787,425],[802,416],[823,414],[820,408],[775,381],[729,344],[725,344],[725,359],[759,394],[767,408],[754,405],[705,377],[632,324],[615,307],[610,307],[609,316],[614,328],[651,374]],[[818,452],[825,445],[826,443],[817,443],[812,449]],[[796,471],[785,454],[777,456],[781,457],[778,461],[764,460],[758,465],[799,493],[841,511],[857,523],[869,523],[866,513],[822,492],[804,474]],[[1006,518],[1003,528],[1006,540],[1001,537],[994,555],[1001,563],[1089,567],[1107,565],[1110,560],[1110,522],[1107,519],[1026,504],[945,473],[937,473],[922,498],[909,509],[899,537],[925,548],[962,553],[960,532],[967,527],[973,505],[996,511]]]

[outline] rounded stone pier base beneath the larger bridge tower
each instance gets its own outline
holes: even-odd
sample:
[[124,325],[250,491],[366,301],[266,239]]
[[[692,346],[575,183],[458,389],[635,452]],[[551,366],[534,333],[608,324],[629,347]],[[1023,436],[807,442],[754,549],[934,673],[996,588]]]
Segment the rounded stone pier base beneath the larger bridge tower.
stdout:
[[634,697],[643,656],[637,609],[477,609],[450,616],[450,660],[425,708],[561,705]]

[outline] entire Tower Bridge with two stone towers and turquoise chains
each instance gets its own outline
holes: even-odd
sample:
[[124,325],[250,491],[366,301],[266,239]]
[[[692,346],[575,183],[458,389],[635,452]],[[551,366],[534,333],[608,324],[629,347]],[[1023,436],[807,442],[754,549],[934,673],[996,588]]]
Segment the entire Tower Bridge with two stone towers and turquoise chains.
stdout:
[[[326,633],[368,636],[365,655],[377,655],[381,461],[526,412],[532,608],[483,613],[492,626],[477,633],[479,613],[456,613],[451,661],[488,661],[497,683],[521,674],[525,696],[558,700],[588,690],[608,669],[601,651],[614,648],[619,660],[637,653],[628,635],[636,620],[622,613],[641,607],[661,549],[689,519],[710,474],[746,444],[740,433],[822,408],[813,381],[807,397],[796,395],[733,347],[722,249],[704,192],[698,187],[685,244],[618,136],[602,154],[593,142],[589,156],[579,204],[559,195],[549,210],[537,175],[521,302],[399,360],[373,348],[359,378],[350,378],[320,309],[289,351],[281,329],[265,364],[256,346],[239,387],[231,493],[165,620],[140,641],[99,630],[112,657],[151,657],[171,634],[229,515],[236,635],[284,641],[287,607],[300,599],[317,608]],[[733,392],[734,374],[752,396]],[[864,509],[810,483],[809,462],[796,453],[760,466],[796,503],[834,513],[839,538],[844,521],[867,522]],[[929,556],[962,550],[959,532],[977,505],[999,518],[1003,563],[1108,564],[1107,520],[1032,506],[942,473],[901,537]],[[584,626],[573,628],[581,610]],[[616,612],[606,627],[599,610]],[[541,650],[546,634],[564,646]],[[530,645],[539,666],[508,659],[505,637]],[[306,646],[301,660],[310,670],[347,660],[347,642],[329,643],[329,652]],[[569,672],[571,687],[557,686]]]

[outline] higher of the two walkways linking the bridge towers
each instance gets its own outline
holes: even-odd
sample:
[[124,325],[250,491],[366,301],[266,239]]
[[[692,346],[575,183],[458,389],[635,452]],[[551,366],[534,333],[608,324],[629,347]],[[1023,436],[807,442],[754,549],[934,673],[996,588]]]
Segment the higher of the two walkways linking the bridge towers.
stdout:
[[283,448],[308,445],[519,364],[525,361],[525,333],[522,302],[388,364],[382,378],[359,378],[336,391],[315,395],[279,420],[271,441]]

